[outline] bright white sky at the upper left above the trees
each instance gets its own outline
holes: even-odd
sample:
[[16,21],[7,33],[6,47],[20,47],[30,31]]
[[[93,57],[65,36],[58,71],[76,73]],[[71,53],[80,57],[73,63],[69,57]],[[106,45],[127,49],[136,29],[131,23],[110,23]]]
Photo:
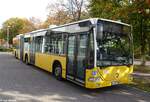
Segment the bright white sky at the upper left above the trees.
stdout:
[[44,21],[48,15],[46,7],[55,0],[0,0],[0,27],[11,17],[36,17]]

